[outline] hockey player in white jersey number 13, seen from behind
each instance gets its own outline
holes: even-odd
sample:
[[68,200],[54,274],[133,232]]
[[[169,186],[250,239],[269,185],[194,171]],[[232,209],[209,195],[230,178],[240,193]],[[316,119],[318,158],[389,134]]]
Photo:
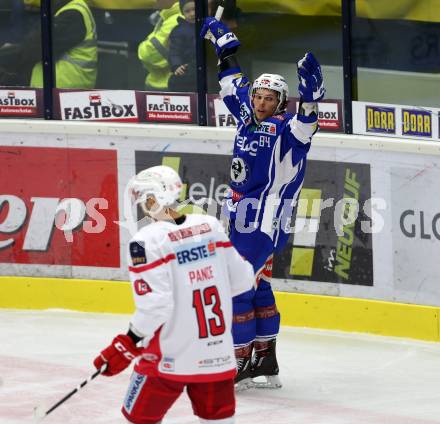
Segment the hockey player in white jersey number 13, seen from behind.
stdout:
[[154,222],[129,244],[136,306],[129,330],[94,365],[107,364],[103,375],[112,376],[136,359],[122,407],[132,423],[160,423],[186,387],[200,422],[231,424],[232,297],[254,290],[254,273],[216,218],[172,208],[181,187],[167,166],[148,168],[131,183],[135,202]]

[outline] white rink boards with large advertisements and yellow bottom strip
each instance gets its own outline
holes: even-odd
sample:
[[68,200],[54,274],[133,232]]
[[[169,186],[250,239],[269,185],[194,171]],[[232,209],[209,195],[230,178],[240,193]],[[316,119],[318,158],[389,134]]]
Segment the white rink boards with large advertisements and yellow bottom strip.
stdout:
[[[125,246],[136,223],[126,186],[140,169],[174,167],[193,209],[220,212],[233,130],[2,129],[0,307],[129,312]],[[439,340],[439,177],[437,142],[317,135],[274,262],[283,324]]]

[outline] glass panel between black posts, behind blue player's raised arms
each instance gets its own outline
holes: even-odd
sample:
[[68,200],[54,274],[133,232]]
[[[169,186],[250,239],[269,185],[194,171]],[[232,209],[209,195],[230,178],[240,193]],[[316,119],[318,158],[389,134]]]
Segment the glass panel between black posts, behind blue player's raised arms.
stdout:
[[[326,98],[343,98],[339,0],[236,0],[228,4],[231,10],[225,10],[224,21],[241,42],[237,57],[250,79],[262,73],[281,74],[290,95],[297,96],[296,62],[310,51],[322,65]],[[215,93],[216,58],[213,49],[208,49],[209,92]]]

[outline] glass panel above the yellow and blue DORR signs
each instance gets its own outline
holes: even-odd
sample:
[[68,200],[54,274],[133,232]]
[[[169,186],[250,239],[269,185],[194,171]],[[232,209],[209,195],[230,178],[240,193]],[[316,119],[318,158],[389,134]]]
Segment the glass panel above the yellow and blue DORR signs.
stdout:
[[353,63],[358,100],[438,107],[440,1],[357,0]]

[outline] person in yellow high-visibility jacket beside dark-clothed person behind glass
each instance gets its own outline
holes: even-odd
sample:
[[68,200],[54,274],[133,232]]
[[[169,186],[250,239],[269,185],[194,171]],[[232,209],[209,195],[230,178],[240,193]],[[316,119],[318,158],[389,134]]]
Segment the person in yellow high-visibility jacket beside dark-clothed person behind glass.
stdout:
[[138,57],[148,71],[145,89],[149,91],[167,91],[171,68],[168,62],[169,38],[182,17],[180,4],[176,0],[156,0],[160,9],[159,18],[153,31],[139,44]]

